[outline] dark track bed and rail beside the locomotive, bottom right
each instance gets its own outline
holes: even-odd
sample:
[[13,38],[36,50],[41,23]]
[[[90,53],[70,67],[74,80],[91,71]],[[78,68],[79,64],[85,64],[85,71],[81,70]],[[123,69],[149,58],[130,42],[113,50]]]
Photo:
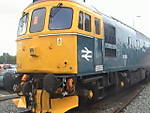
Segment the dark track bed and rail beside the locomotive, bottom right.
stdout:
[[145,85],[140,83],[126,91],[112,94],[82,110],[73,110],[69,113],[120,113],[143,91]]

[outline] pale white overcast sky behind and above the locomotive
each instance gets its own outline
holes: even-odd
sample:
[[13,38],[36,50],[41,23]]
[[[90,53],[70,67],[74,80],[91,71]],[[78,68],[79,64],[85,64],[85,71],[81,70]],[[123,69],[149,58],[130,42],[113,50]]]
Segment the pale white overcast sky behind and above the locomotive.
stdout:
[[[86,0],[100,12],[113,16],[150,37],[149,0]],[[0,0],[0,55],[16,55],[18,21],[32,0]]]

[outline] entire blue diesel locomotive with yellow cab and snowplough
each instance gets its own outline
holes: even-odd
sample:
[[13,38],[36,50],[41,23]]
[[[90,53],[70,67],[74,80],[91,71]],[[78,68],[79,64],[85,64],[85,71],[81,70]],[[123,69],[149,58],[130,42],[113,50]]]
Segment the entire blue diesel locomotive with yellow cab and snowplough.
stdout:
[[19,21],[18,107],[63,113],[149,79],[150,39],[75,0],[37,0]]

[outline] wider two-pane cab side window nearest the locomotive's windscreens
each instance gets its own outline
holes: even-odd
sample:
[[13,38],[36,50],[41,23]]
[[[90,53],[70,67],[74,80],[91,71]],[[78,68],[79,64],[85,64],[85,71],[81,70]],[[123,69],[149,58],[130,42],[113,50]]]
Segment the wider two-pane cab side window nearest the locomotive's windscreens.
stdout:
[[80,11],[78,28],[91,32],[91,16]]

